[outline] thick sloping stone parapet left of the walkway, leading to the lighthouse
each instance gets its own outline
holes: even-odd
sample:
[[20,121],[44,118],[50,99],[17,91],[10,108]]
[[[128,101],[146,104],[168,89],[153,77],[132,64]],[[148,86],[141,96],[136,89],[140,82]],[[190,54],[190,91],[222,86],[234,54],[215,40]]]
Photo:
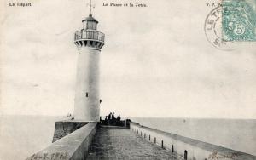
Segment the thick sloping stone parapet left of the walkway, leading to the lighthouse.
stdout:
[[87,123],[26,160],[84,160],[96,133],[96,125]]

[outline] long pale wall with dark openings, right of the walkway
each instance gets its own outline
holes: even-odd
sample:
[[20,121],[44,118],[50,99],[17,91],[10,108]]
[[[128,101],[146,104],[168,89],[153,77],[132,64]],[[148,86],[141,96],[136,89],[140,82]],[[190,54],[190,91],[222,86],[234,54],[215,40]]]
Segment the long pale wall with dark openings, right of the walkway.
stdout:
[[158,129],[151,129],[142,126],[139,123],[131,123],[130,129],[136,134],[142,136],[145,140],[148,140],[167,150],[176,152],[178,156],[183,157],[184,159],[256,159],[255,156],[247,153],[230,150],[228,148],[212,145],[200,140],[190,139],[177,134],[166,133]]

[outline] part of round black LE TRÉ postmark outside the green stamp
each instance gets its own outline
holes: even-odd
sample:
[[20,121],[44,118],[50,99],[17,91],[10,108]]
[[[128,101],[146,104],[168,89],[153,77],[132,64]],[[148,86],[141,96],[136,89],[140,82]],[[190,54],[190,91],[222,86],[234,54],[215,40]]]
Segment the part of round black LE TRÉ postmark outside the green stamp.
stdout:
[[209,43],[221,50],[233,50],[234,43],[224,41],[222,38],[222,7],[212,9],[207,15],[204,26],[205,34]]

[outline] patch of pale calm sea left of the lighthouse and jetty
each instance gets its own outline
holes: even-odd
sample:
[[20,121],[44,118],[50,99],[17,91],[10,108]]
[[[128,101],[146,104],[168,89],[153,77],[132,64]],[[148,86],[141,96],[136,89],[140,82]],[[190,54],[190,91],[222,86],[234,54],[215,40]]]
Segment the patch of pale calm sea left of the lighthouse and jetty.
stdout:
[[1,116],[0,160],[24,160],[49,146],[55,121],[64,117]]

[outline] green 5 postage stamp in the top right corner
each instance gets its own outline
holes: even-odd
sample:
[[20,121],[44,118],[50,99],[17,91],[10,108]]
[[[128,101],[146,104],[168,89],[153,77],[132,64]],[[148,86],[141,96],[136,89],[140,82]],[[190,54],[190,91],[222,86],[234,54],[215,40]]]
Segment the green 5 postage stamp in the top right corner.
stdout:
[[223,0],[222,6],[223,41],[256,41],[256,0]]

